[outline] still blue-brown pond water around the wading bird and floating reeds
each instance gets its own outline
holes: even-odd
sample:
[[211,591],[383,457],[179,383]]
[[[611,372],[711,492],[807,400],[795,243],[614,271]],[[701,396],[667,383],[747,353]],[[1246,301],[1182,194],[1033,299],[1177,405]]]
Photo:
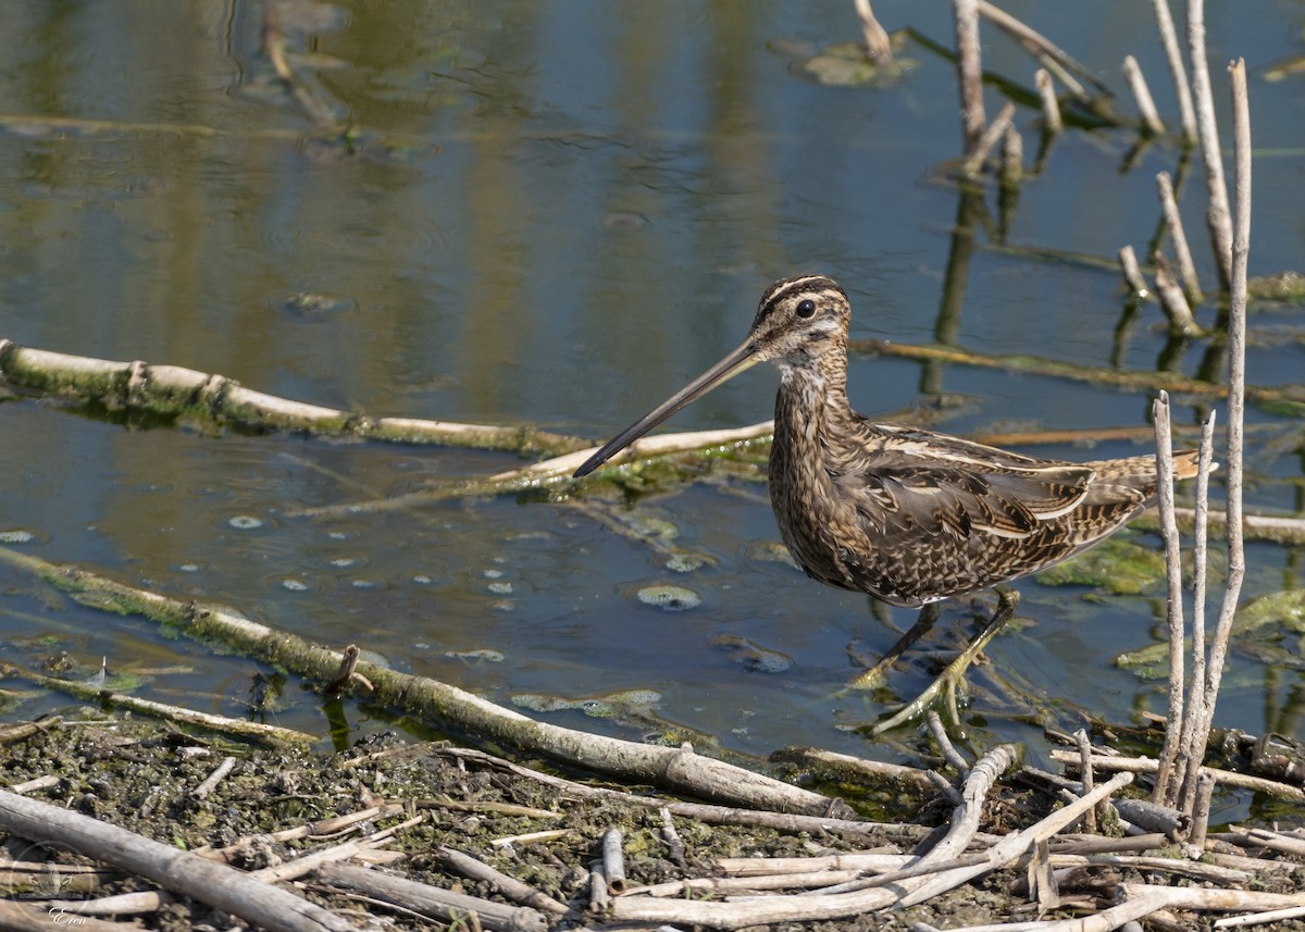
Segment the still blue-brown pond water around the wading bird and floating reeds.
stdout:
[[[1173,112],[1150,8],[1105,7],[1101,16],[1010,4],[1112,86],[1124,55],[1138,56],[1161,111]],[[1207,7],[1214,61],[1245,55],[1255,77],[1300,54],[1289,38],[1298,10]],[[945,337],[983,354],[1142,371],[1161,358],[1188,372],[1207,364],[1206,342],[1165,355],[1151,305],[1116,333],[1112,257],[1125,243],[1144,251],[1159,215],[1154,176],[1176,170],[1177,148],[1159,140],[1130,153],[1131,132],[1074,131],[1005,214],[996,192],[962,201],[937,171],[958,149],[947,61],[908,44],[917,67],[877,90],[800,74],[801,55],[855,38],[850,4],[286,9],[294,93],[260,44],[258,4],[10,4],[0,37],[10,63],[0,78],[9,114],[0,335],[219,372],[377,415],[594,437],[735,346],[761,287],[801,270],[848,288],[857,338]],[[890,29],[949,42],[944,5],[877,10]],[[1018,48],[997,35],[989,44],[989,69],[1031,81]],[[1224,101],[1223,69],[1214,72]],[[1263,151],[1253,274],[1298,268],[1305,255],[1293,206],[1298,85],[1253,84]],[[346,119],[348,138],[324,134],[321,119]],[[1037,116],[1026,108],[1017,121],[1031,151]],[[1202,200],[1189,179],[1193,239]],[[972,230],[954,236],[958,217]],[[962,247],[964,268],[949,266]],[[1199,247],[1198,262],[1212,285]],[[940,308],[953,313],[945,324]],[[1270,335],[1253,342],[1253,381],[1300,381],[1300,305],[1255,315]],[[677,426],[761,420],[773,379],[750,373]],[[945,396],[928,416],[958,433],[1137,427],[1150,407],[1144,393],[1091,382],[864,356],[852,360],[850,393],[867,412],[937,407]],[[1184,423],[1208,405],[1178,401]],[[513,459],[146,429],[27,396],[5,402],[0,530],[31,535],[17,546],[328,644],[358,642],[500,701],[535,697],[559,722],[638,734],[669,721],[757,754],[793,743],[891,753],[848,726],[925,681],[921,650],[886,693],[835,697],[910,617],[877,615],[778,559],[757,480],[664,487],[628,508],[595,491],[304,520],[288,516],[488,475]],[[1250,419],[1251,508],[1298,513],[1298,415],[1257,409]],[[1144,448],[1124,439],[1027,449],[1095,458]],[[663,546],[617,533],[622,521],[660,522]],[[1250,597],[1301,585],[1300,547],[1261,544],[1250,563]],[[697,602],[669,611],[641,599],[668,585]],[[144,620],[106,619],[29,580],[4,574],[4,587],[5,655],[31,663],[65,651],[86,670],[107,655],[114,668],[144,671],[149,694],[241,714],[254,664],[163,641]],[[1060,726],[1079,710],[1126,719],[1160,707],[1154,683],[1114,658],[1156,640],[1161,587],[1112,595],[1030,582],[1023,591],[1028,623],[1001,637],[974,677],[967,727],[977,740],[1037,740],[1006,687]],[[953,646],[972,627],[958,607],[932,646]],[[1238,653],[1224,722],[1305,736],[1298,638],[1278,627]],[[633,706],[572,707],[632,691],[642,691]],[[585,718],[596,707],[617,718]],[[380,713],[348,714],[354,735],[386,724],[368,718]],[[326,730],[296,683],[284,684],[274,715]]]

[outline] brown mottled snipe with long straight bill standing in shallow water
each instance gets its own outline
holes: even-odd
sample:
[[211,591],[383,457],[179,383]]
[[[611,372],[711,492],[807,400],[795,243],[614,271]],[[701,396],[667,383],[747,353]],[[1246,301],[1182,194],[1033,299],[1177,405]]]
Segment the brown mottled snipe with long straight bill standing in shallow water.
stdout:
[[[857,414],[847,403],[850,320],[851,303],[833,279],[775,282],[733,352],[612,437],[576,475],[716,385],[771,362],[780,375],[770,501],[793,560],[827,585],[894,606],[928,606],[1074,556],[1152,503],[1154,456],[1039,459]],[[1174,453],[1176,478],[1195,473],[1194,450]],[[932,616],[921,623],[885,660],[927,630]]]

